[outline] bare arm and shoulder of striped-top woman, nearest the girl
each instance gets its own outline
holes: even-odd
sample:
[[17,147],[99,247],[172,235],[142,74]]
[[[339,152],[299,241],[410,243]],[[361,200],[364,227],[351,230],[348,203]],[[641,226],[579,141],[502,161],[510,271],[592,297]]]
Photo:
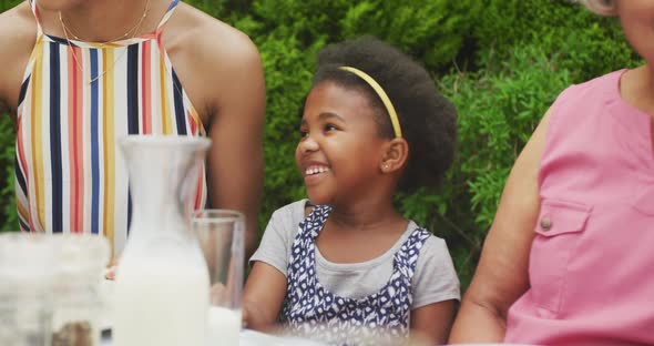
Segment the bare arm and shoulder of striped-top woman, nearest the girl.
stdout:
[[[256,248],[264,182],[266,92],[259,53],[247,35],[208,16],[178,20],[192,29],[184,52],[175,55],[182,83],[203,115],[212,147],[207,154],[211,207],[243,212],[245,255]],[[173,20],[173,19],[171,19]],[[173,29],[173,28],[168,28]],[[171,51],[175,52],[174,38]]]

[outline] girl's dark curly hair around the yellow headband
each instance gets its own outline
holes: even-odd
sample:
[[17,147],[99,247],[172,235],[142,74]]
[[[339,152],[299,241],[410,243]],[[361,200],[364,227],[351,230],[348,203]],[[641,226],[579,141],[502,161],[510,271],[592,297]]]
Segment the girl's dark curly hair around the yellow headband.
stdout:
[[454,156],[457,110],[438,92],[429,72],[408,54],[372,37],[329,44],[318,54],[314,86],[333,82],[364,92],[377,111],[379,135],[389,139],[395,136],[392,125],[377,93],[340,67],[365,71],[394,103],[402,136],[409,143],[409,161],[399,189],[411,193],[418,187],[438,187]]

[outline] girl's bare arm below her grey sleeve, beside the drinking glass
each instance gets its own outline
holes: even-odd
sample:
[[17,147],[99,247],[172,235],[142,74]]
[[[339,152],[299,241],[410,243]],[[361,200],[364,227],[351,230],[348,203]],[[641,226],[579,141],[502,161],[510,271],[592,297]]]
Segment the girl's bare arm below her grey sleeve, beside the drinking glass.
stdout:
[[243,295],[243,320],[248,328],[270,333],[286,295],[286,276],[265,262],[255,262]]

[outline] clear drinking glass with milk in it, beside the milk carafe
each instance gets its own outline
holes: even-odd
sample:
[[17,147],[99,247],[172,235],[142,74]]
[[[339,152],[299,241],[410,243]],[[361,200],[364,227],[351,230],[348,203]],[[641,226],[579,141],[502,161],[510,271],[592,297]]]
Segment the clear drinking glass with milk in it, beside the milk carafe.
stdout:
[[192,225],[210,274],[207,339],[211,345],[238,345],[245,217],[236,211],[201,210],[193,214]]

